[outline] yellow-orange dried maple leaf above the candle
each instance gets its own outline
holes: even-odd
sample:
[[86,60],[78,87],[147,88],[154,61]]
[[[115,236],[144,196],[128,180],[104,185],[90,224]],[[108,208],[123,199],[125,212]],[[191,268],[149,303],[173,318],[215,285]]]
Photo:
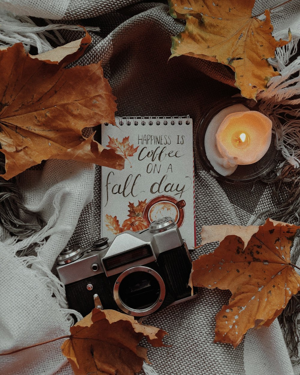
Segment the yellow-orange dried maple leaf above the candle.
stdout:
[[172,37],[173,56],[189,55],[230,66],[236,86],[246,98],[266,90],[271,77],[279,75],[267,61],[275,49],[291,41],[272,36],[270,12],[266,20],[252,17],[255,0],[169,0],[170,14],[186,18],[182,33]]

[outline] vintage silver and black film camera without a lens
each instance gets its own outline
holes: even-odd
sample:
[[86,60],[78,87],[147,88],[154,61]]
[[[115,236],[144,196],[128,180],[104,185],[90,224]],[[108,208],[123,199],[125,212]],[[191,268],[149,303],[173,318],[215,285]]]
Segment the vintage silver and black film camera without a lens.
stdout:
[[135,317],[190,299],[190,270],[189,250],[171,217],[120,233],[110,244],[105,237],[89,248],[67,248],[57,258],[69,307],[83,316],[95,307],[95,294],[104,309]]

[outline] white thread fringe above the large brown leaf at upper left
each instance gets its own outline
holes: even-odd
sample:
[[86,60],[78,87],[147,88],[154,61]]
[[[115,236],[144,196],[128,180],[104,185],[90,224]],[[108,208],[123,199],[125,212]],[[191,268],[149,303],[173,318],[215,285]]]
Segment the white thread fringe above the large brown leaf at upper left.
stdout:
[[[75,25],[50,24],[47,26],[36,26],[36,24],[27,16],[17,16],[11,12],[0,11],[0,46],[6,48],[15,43],[22,42],[26,52],[29,52],[30,46],[37,48],[38,53],[53,49],[46,37],[56,45],[65,43],[63,37],[58,33],[58,29],[79,30],[82,27]],[[55,35],[48,31],[52,30]],[[99,31],[99,27],[86,27],[88,31]]]

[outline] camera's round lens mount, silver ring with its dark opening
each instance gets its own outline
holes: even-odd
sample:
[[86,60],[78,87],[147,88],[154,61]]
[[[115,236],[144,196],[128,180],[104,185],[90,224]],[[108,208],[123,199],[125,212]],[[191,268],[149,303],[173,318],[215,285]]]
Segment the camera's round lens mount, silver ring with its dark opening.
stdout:
[[114,284],[114,300],[126,314],[144,317],[159,309],[166,295],[163,279],[145,266],[122,272]]

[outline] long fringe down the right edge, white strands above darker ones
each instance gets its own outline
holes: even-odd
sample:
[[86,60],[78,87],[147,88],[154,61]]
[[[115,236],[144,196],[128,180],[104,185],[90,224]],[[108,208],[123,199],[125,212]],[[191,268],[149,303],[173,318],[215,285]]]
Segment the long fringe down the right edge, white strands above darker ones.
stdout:
[[275,208],[260,212],[256,219],[271,217],[295,224],[300,220],[300,56],[295,58],[299,40],[294,38],[276,50],[270,62],[281,75],[257,95],[260,111],[278,130],[282,156],[277,168],[263,179],[273,185]]

